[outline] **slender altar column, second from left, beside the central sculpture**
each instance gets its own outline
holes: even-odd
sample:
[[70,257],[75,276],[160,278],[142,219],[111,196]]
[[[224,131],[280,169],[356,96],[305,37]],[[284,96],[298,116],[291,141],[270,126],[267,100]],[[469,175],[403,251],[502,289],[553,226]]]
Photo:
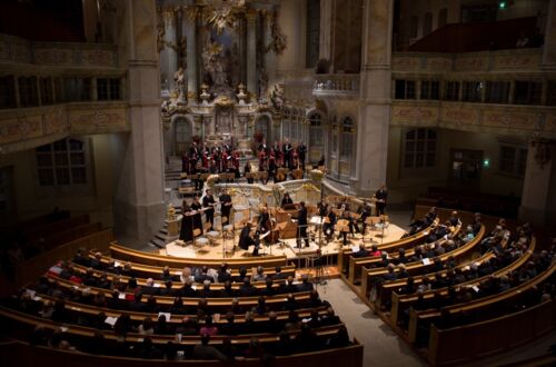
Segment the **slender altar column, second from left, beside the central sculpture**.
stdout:
[[182,29],[187,38],[187,99],[197,99],[199,86],[197,82],[197,14],[199,8],[187,7]]

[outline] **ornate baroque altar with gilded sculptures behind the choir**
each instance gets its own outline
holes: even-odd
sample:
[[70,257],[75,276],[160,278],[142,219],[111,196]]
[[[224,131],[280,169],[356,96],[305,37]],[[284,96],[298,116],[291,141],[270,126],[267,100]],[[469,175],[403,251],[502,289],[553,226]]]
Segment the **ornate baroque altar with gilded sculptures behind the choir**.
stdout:
[[192,141],[248,153],[279,136],[284,90],[274,70],[286,37],[278,11],[276,0],[158,1],[166,156]]

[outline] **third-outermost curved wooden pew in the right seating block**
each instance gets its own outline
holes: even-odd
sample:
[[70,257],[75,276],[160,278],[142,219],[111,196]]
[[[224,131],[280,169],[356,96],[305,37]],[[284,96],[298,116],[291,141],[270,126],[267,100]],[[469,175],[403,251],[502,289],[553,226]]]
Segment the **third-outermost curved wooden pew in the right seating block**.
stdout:
[[[528,248],[527,252],[525,252],[516,261],[512,262],[510,265],[508,265],[505,268],[496,270],[492,275],[487,275],[487,276],[484,276],[484,277],[480,277],[480,278],[477,278],[477,279],[473,279],[473,280],[459,284],[458,287],[461,287],[461,286],[477,286],[481,281],[484,281],[487,278],[489,278],[490,276],[502,277],[503,275],[506,275],[506,274],[508,274],[510,271],[514,271],[514,270],[520,268],[524,264],[527,264],[527,261],[529,261],[530,257],[533,256],[533,254],[535,251],[535,247],[536,247],[536,239],[533,238],[532,241],[530,241],[530,245],[529,245],[529,248]],[[448,294],[447,292],[447,288],[438,288],[438,289],[433,289],[433,290],[424,292],[423,297],[425,299],[430,299],[430,298],[434,297],[435,292],[437,292],[437,291],[439,291],[441,295],[447,295]],[[397,295],[397,294],[393,294],[391,295],[391,308],[390,308],[390,320],[391,320],[391,323],[394,325],[397,325],[397,323],[399,320],[399,317],[403,314],[403,311],[406,310],[406,309],[408,309],[411,306],[411,304],[415,302],[415,301],[417,301],[417,296],[416,295],[404,295],[404,296],[400,296],[400,295]]]

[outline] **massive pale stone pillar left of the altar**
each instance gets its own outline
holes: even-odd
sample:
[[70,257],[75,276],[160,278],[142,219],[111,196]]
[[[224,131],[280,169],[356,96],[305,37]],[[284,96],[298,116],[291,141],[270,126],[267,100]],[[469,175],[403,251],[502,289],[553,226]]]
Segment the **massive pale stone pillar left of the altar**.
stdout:
[[128,69],[131,132],[115,136],[115,230],[145,244],[163,225],[165,180],[155,0],[122,0],[119,37]]

